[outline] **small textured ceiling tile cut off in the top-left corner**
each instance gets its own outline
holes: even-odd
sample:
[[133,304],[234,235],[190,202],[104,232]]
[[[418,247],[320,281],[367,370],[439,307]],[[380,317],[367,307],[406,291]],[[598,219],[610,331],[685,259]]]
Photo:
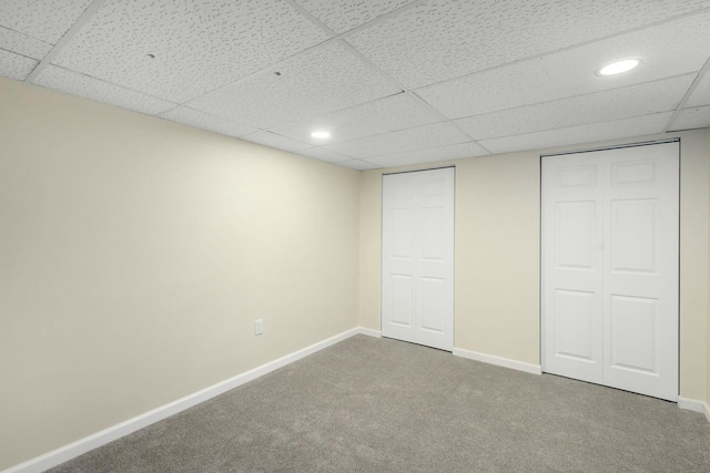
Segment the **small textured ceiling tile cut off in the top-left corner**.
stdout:
[[2,0],[0,25],[57,44],[92,0]]

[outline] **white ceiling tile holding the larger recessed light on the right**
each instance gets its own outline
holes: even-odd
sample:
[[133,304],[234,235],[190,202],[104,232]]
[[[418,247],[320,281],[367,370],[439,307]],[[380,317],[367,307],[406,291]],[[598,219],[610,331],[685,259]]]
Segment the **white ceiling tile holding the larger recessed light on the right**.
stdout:
[[[416,93],[449,119],[458,119],[680,75],[700,70],[708,59],[708,24],[710,12],[696,14],[443,82]],[[645,61],[628,74],[607,78],[595,74],[601,65],[619,58]],[[707,83],[710,96],[710,80]]]

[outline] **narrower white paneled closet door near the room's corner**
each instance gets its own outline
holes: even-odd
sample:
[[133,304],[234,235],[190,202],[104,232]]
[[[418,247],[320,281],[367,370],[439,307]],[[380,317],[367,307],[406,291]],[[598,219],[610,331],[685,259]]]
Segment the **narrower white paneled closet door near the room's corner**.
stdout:
[[383,176],[383,336],[454,348],[453,167]]

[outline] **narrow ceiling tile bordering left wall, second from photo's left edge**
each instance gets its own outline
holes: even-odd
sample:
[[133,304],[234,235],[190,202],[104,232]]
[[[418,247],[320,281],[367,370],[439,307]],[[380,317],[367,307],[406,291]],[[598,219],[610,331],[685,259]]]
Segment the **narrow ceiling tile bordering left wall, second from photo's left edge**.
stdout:
[[42,72],[40,72],[33,82],[49,89],[133,110],[135,112],[146,113],[149,115],[155,115],[175,106],[174,103],[54,65],[42,69]]

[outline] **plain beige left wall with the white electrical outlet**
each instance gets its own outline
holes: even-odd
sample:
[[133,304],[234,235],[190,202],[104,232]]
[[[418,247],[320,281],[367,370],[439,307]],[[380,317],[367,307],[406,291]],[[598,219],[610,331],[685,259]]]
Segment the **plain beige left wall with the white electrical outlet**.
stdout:
[[0,133],[0,470],[358,325],[359,173],[7,79]]

